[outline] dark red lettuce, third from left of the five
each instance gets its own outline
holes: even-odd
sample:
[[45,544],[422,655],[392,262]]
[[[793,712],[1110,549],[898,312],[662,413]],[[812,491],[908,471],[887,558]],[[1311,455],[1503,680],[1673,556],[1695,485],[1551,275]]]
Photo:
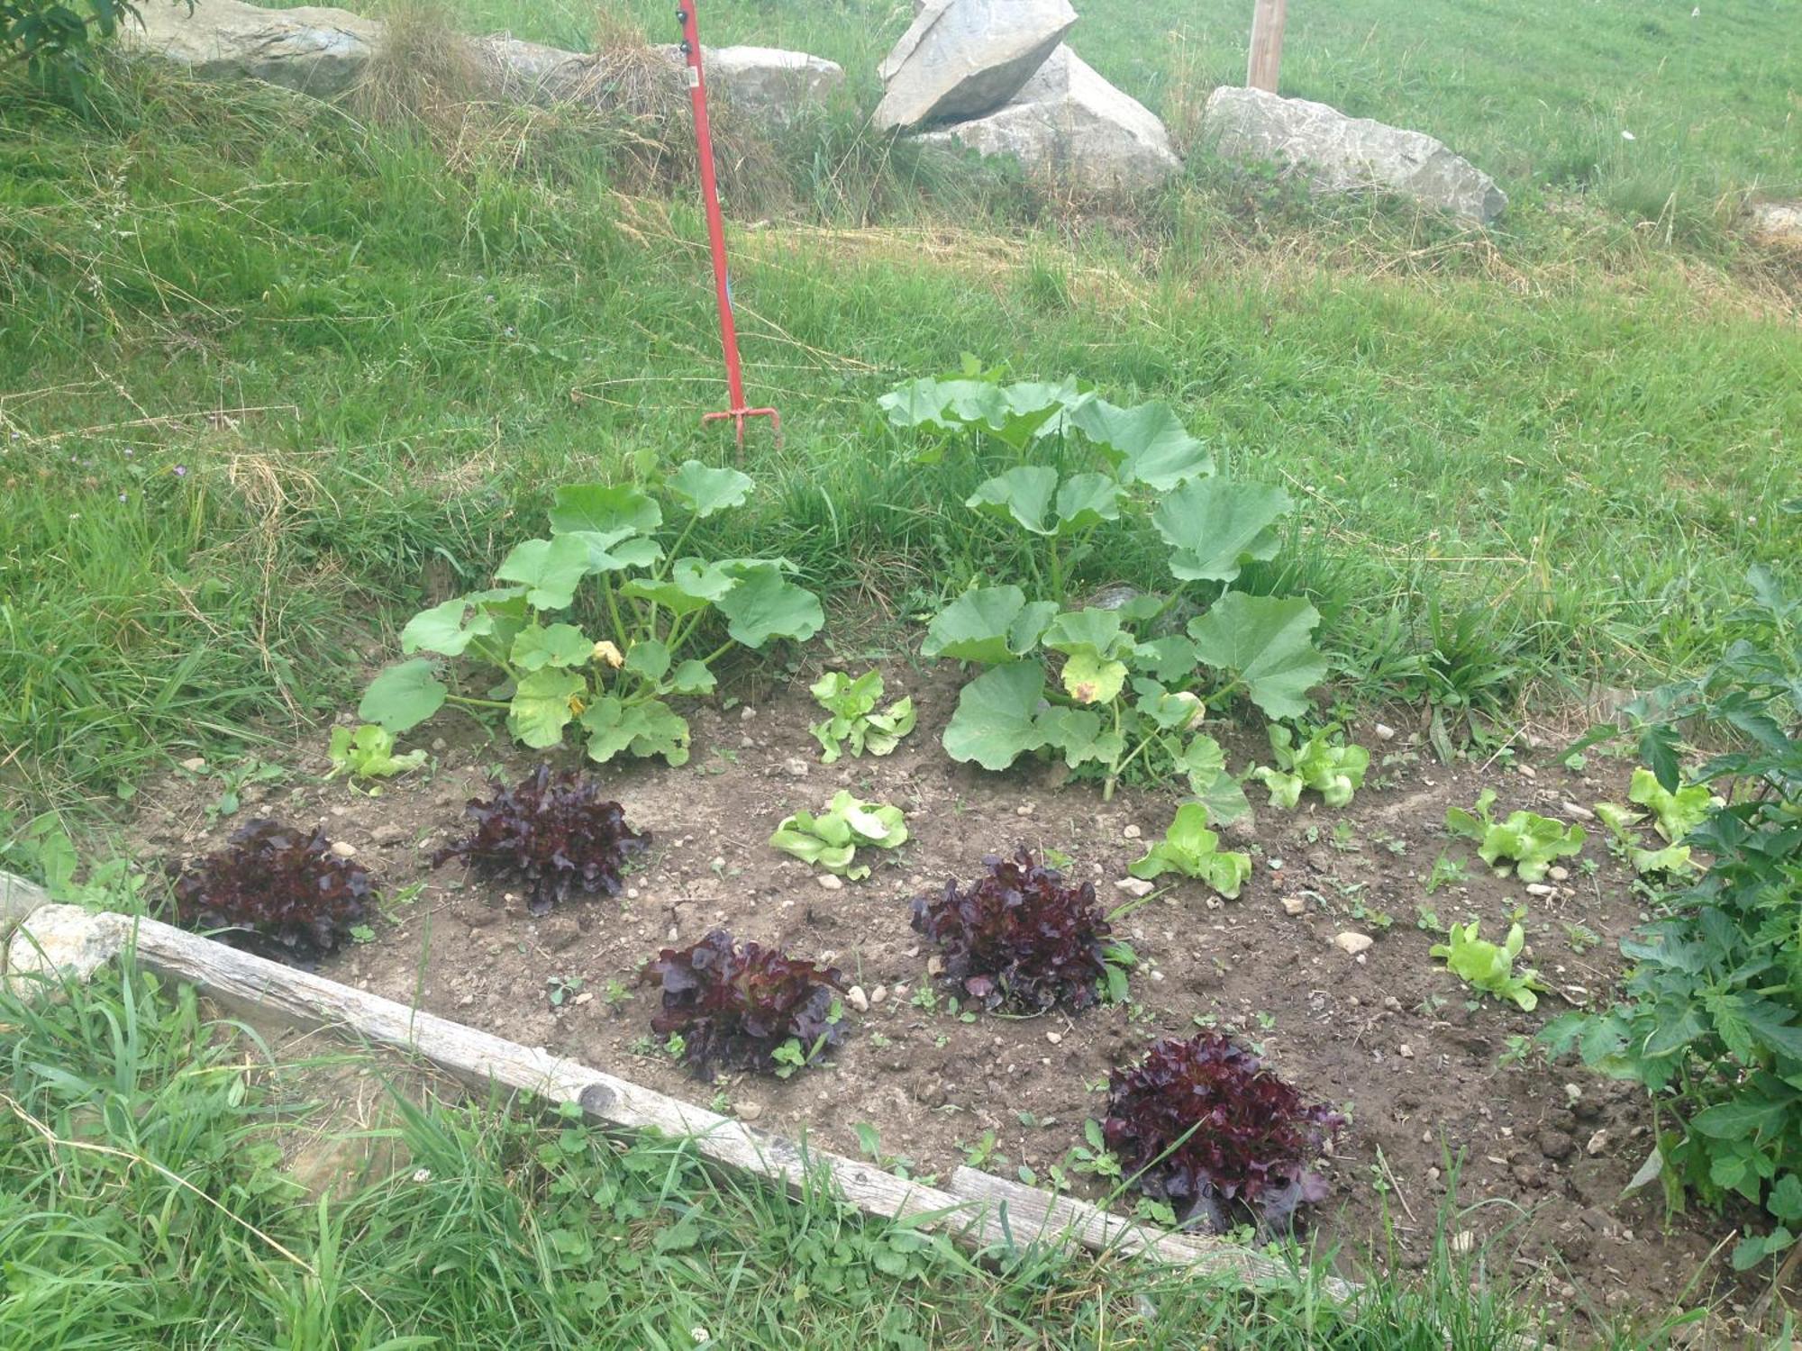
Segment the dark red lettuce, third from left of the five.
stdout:
[[845,1036],[836,967],[755,942],[741,948],[724,929],[692,948],[665,948],[645,966],[643,982],[663,985],[663,1011],[651,1027],[679,1036],[683,1063],[703,1077],[715,1065],[787,1077]]

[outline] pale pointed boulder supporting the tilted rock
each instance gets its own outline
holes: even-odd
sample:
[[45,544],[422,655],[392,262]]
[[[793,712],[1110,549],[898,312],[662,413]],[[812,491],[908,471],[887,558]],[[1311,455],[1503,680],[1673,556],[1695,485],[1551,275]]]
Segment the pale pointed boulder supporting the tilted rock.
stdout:
[[1105,196],[1157,187],[1182,168],[1157,115],[1069,47],[1058,47],[998,112],[919,141],[1015,155],[1029,173]]

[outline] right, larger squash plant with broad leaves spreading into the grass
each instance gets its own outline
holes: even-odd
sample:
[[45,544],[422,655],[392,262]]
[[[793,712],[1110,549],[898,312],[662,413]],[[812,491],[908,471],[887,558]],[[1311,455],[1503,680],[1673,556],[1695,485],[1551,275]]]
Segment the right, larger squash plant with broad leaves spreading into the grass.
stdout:
[[[1247,562],[1276,557],[1288,494],[1213,477],[1207,449],[1169,407],[1123,409],[1074,380],[1000,385],[966,371],[915,380],[881,407],[897,427],[969,429],[1007,447],[1016,463],[980,483],[966,506],[1036,540],[1031,593],[977,585],[928,625],[924,656],[987,666],[944,730],[951,758],[1006,769],[1045,751],[1099,778],[1108,798],[1132,771],[1186,778],[1215,821],[1243,814],[1245,794],[1202,722],[1242,697],[1272,719],[1301,717],[1306,692],[1326,676],[1314,605],[1220,594]],[[1072,447],[1087,452],[1081,468],[1029,463],[1054,436],[1060,461]],[[1094,533],[1128,517],[1166,548],[1171,589],[1121,605],[1076,603],[1072,569]],[[1207,598],[1188,623],[1173,618]]]

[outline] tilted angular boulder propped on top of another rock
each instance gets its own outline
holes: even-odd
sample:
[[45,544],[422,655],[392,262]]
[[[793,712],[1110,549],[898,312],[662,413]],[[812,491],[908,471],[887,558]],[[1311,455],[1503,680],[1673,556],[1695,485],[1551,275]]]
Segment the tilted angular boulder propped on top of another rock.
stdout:
[[926,0],[883,58],[883,130],[978,117],[1020,92],[1076,23],[1070,0]]

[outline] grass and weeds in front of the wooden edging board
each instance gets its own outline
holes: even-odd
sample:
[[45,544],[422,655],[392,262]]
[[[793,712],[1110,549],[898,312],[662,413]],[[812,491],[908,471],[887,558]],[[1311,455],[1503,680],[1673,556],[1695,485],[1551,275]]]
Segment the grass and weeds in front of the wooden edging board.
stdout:
[[[1449,1252],[1452,1210],[1418,1279],[1375,1275],[1337,1306],[1308,1265],[1243,1292],[1123,1257],[975,1261],[822,1187],[708,1174],[681,1140],[416,1088],[308,1191],[299,1146],[350,1129],[310,1084],[395,1066],[272,1052],[130,966],[56,1003],[0,994],[0,1344],[16,1351],[1479,1351],[1526,1329],[1506,1265]],[[1645,1342],[1622,1328],[1600,1344]]]

